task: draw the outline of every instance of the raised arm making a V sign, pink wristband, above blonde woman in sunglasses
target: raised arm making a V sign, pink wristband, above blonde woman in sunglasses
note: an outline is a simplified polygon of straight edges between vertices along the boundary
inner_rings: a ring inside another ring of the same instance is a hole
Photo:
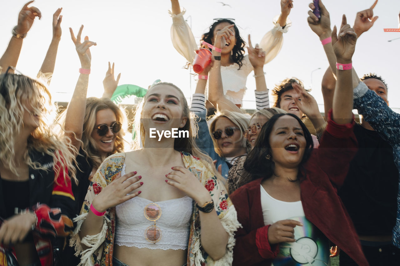
[[[89,41],[88,36],[85,37],[83,43],[80,42],[83,25],[80,27],[78,35],[74,36],[74,32],[70,28],[72,42],[75,44],[76,52],[78,52],[81,69],[86,71],[80,71],[78,82],[72,99],[68,104],[66,118],[65,118],[65,131],[66,135],[70,137],[72,144],[79,150],[80,139],[82,139],[83,121],[86,109],[86,93],[88,91],[88,82],[92,56],[90,54],[89,47],[96,45],[95,42]],[[86,72],[86,73],[82,73]]]

